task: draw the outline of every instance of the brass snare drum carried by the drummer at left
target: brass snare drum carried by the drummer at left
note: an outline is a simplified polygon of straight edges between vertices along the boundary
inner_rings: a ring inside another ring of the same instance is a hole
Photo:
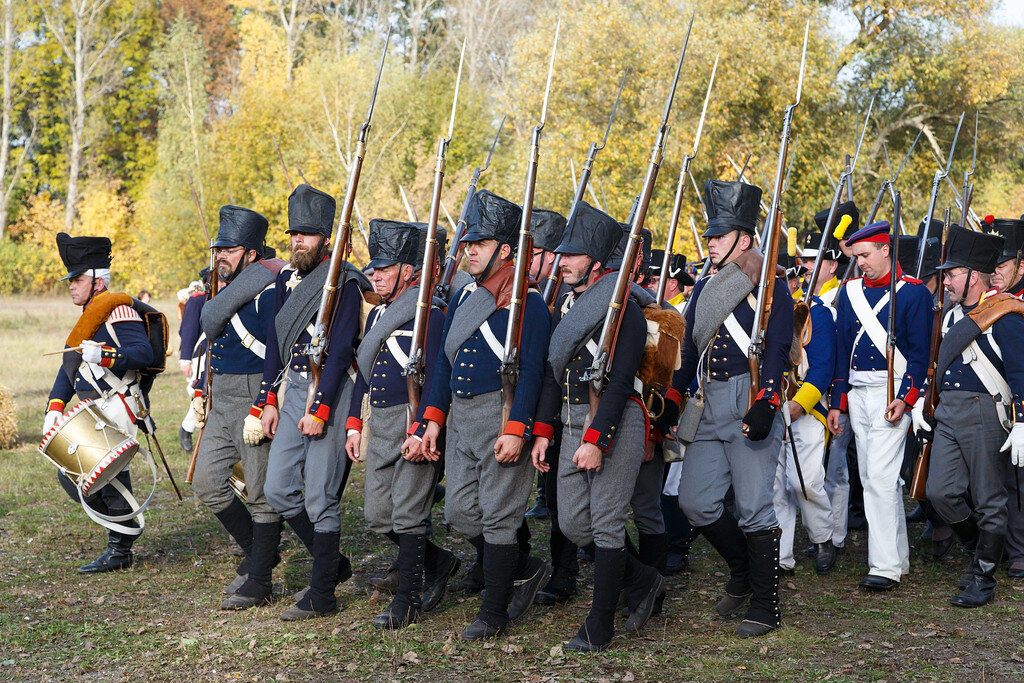
[[[89,496],[127,467],[138,447],[138,441],[114,427],[99,407],[87,399],[46,432],[39,453],[67,474],[82,496]]]

